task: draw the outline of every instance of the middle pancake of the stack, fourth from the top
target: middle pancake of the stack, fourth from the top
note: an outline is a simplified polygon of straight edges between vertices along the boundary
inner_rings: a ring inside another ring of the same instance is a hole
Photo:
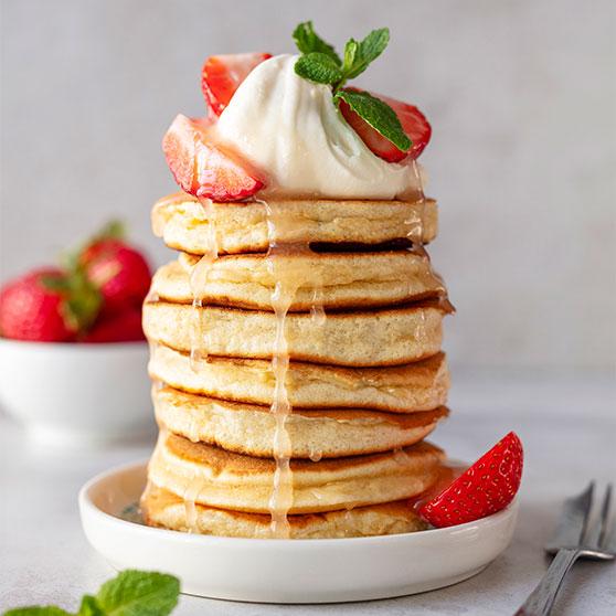
[[[153,344],[149,373],[174,389],[223,400],[270,405],[275,379],[268,360],[209,358],[192,370],[187,353]],[[447,400],[444,353],[395,368],[340,368],[291,362],[286,379],[295,408],[432,411]]]

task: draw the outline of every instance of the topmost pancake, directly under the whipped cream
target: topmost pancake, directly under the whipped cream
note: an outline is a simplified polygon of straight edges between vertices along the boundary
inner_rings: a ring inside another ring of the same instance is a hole
[[[436,202],[277,200],[288,212],[288,233],[279,242],[378,245],[408,234],[428,243],[436,236]],[[220,254],[265,252],[269,247],[266,204],[213,203]],[[155,235],[170,248],[202,255],[211,233],[204,209],[195,198],[176,193],[157,201],[152,210]]]

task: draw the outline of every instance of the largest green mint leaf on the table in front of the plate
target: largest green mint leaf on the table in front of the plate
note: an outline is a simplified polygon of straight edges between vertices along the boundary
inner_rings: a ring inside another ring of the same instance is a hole
[[[96,603],[106,616],[167,616],[179,593],[172,575],[127,570],[100,586]]]

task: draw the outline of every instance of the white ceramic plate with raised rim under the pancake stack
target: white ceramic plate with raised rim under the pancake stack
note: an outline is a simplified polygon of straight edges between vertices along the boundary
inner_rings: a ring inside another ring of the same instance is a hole
[[[127,521],[146,482],[132,464],[91,479],[79,492],[91,544],[116,569],[177,575],[182,592],[259,603],[330,603],[410,595],[479,573],[509,544],[517,503],[449,529],[351,539],[234,539]]]

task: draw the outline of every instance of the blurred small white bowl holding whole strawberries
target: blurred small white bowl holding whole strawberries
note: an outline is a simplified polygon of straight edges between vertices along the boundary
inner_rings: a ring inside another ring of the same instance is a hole
[[[59,445],[130,438],[153,424],[147,362],[146,342],[0,339],[0,407]]]

